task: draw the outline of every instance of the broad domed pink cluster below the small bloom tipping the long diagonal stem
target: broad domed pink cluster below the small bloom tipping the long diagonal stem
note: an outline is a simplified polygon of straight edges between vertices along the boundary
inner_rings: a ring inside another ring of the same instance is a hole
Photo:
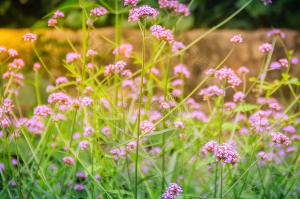
[[[237,77],[235,71],[227,67],[223,67],[217,71],[214,71],[214,77],[218,80],[227,79],[227,83],[233,88],[241,83],[241,80]]]

